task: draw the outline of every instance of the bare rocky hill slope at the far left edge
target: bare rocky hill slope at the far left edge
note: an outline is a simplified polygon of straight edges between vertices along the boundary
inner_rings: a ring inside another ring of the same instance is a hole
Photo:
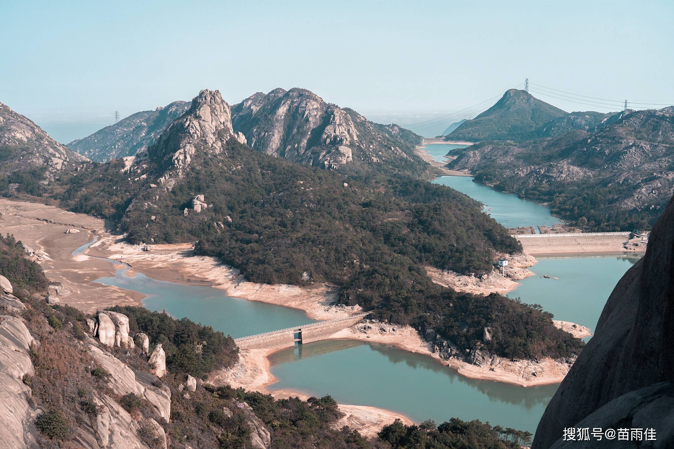
[[[40,173],[36,178],[49,181],[62,170],[71,170],[86,161],[32,120],[0,103],[0,174],[37,169]]]

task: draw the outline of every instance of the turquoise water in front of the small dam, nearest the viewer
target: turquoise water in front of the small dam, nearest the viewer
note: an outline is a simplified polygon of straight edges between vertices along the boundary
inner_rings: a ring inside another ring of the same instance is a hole
[[[415,422],[460,417],[533,432],[557,390],[470,380],[427,355],[359,341],[317,341],[269,359],[278,379],[272,389],[331,394],[339,403],[381,407]]]

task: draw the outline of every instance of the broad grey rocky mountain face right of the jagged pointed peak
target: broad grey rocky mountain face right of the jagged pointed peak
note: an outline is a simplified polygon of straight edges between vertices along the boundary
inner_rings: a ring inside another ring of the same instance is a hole
[[[414,153],[418,135],[373,123],[306,89],[257,92],[232,107],[232,125],[253,149],[301,164],[347,171],[425,169]]]

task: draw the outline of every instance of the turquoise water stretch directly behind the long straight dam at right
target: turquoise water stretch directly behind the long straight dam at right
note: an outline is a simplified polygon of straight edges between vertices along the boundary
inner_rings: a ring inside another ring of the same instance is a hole
[[[561,221],[548,209],[534,201],[518,198],[514,193],[501,193],[490,187],[472,182],[470,176],[440,176],[431,181],[450,186],[485,205],[485,211],[506,228],[519,226],[552,226]],[[538,233],[538,228],[536,228]]]

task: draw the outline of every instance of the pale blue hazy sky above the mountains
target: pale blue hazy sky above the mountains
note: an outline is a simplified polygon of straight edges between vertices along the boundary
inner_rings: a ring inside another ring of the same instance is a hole
[[[204,88],[306,88],[423,135],[527,77],[569,111],[674,103],[674,1],[4,0],[0,36],[0,102],[63,143]]]

